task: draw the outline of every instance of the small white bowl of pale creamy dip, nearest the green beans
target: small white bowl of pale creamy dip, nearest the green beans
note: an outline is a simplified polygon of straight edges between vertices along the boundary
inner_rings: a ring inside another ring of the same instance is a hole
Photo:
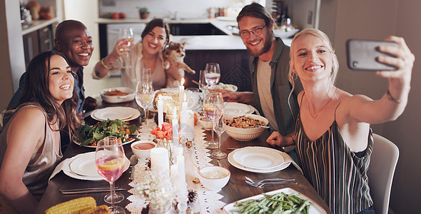
[[[199,170],[199,180],[208,190],[220,190],[230,180],[230,170],[217,166],[209,165]]]

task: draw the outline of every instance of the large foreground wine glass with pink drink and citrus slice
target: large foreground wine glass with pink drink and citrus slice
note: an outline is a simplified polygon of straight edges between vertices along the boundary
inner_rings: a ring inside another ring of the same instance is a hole
[[[114,181],[123,174],[124,162],[124,148],[120,139],[108,136],[98,141],[95,151],[96,170],[103,180],[110,183],[111,195],[114,193]],[[111,213],[126,213],[123,208],[114,205],[114,197],[110,197],[110,199],[111,206],[109,209]]]

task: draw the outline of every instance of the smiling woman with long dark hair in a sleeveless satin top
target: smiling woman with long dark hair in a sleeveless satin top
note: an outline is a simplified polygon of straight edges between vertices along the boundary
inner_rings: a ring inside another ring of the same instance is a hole
[[[62,54],[35,56],[26,83],[18,107],[1,113],[0,205],[6,213],[34,212],[63,156],[60,131],[71,136],[78,123],[74,78]]]

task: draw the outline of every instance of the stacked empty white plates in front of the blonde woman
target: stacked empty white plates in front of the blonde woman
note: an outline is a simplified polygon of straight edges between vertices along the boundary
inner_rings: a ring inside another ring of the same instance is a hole
[[[283,152],[273,148],[248,146],[228,154],[228,162],[235,168],[253,173],[273,173],[290,165]]]

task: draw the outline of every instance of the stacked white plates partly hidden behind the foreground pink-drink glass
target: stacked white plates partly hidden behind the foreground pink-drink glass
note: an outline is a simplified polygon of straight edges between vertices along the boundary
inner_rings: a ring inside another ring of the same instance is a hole
[[[124,171],[128,169],[130,161],[125,157]],[[69,170],[63,170],[63,172],[71,178],[80,180],[103,180],[98,174],[95,165],[95,152],[83,153],[76,157],[69,163]]]

